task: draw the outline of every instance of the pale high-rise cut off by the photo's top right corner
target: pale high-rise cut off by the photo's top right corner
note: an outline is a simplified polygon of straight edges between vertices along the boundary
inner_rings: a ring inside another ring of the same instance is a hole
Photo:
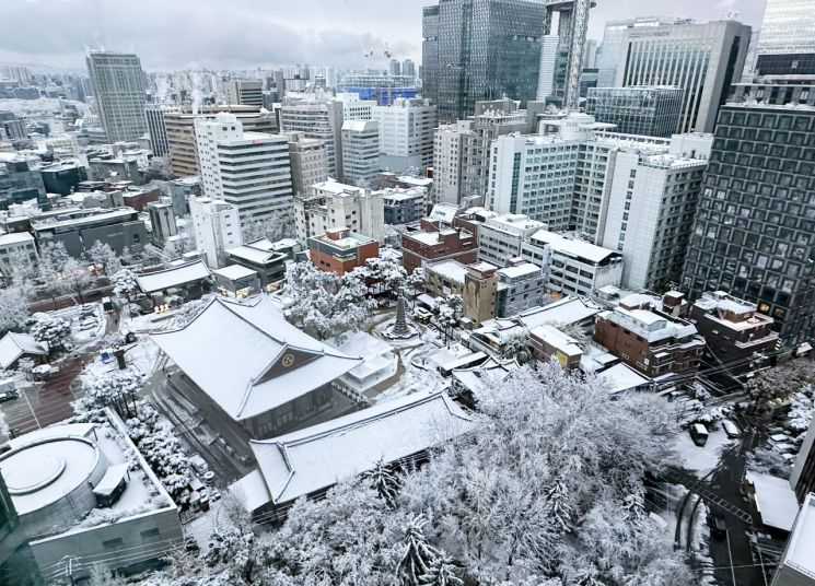
[[[759,75],[815,74],[815,0],[767,0],[755,68]]]

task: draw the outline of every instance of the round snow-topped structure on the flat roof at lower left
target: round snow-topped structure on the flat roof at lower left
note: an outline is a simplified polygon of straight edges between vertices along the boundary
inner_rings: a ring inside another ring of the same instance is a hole
[[[0,457],[14,507],[33,535],[75,523],[94,508],[93,485],[106,469],[98,446],[77,435],[40,437]]]

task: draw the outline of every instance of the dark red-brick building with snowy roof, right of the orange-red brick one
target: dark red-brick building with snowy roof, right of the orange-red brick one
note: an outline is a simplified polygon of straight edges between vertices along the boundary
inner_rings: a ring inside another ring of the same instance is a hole
[[[428,262],[455,259],[464,265],[478,260],[478,239],[466,230],[439,221],[421,220],[421,230],[401,235],[401,263],[408,272]]]

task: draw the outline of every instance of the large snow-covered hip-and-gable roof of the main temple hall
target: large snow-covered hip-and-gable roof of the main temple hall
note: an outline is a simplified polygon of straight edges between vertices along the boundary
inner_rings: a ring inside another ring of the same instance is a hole
[[[362,362],[299,330],[267,300],[216,298],[184,328],[152,339],[238,421],[302,397]]]

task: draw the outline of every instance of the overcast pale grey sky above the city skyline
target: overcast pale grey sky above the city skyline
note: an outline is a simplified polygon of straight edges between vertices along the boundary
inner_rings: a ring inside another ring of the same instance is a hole
[[[596,0],[606,20],[649,14],[717,20],[737,10],[757,26],[766,0]],[[288,63],[362,68],[394,56],[421,62],[421,8],[431,0],[0,0],[0,62],[84,69],[85,47],[133,51],[145,70]]]

